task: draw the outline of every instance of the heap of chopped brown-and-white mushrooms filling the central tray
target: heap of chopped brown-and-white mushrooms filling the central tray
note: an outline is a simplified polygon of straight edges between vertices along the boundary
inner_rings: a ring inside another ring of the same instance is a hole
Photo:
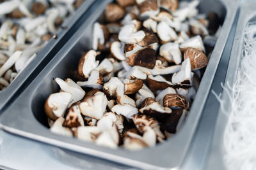
[[[52,132],[138,150],[178,131],[220,20],[198,14],[199,1],[116,2],[106,7],[106,22],[93,25],[93,49],[74,81],[55,79],[60,92],[48,97],[45,113]]]

